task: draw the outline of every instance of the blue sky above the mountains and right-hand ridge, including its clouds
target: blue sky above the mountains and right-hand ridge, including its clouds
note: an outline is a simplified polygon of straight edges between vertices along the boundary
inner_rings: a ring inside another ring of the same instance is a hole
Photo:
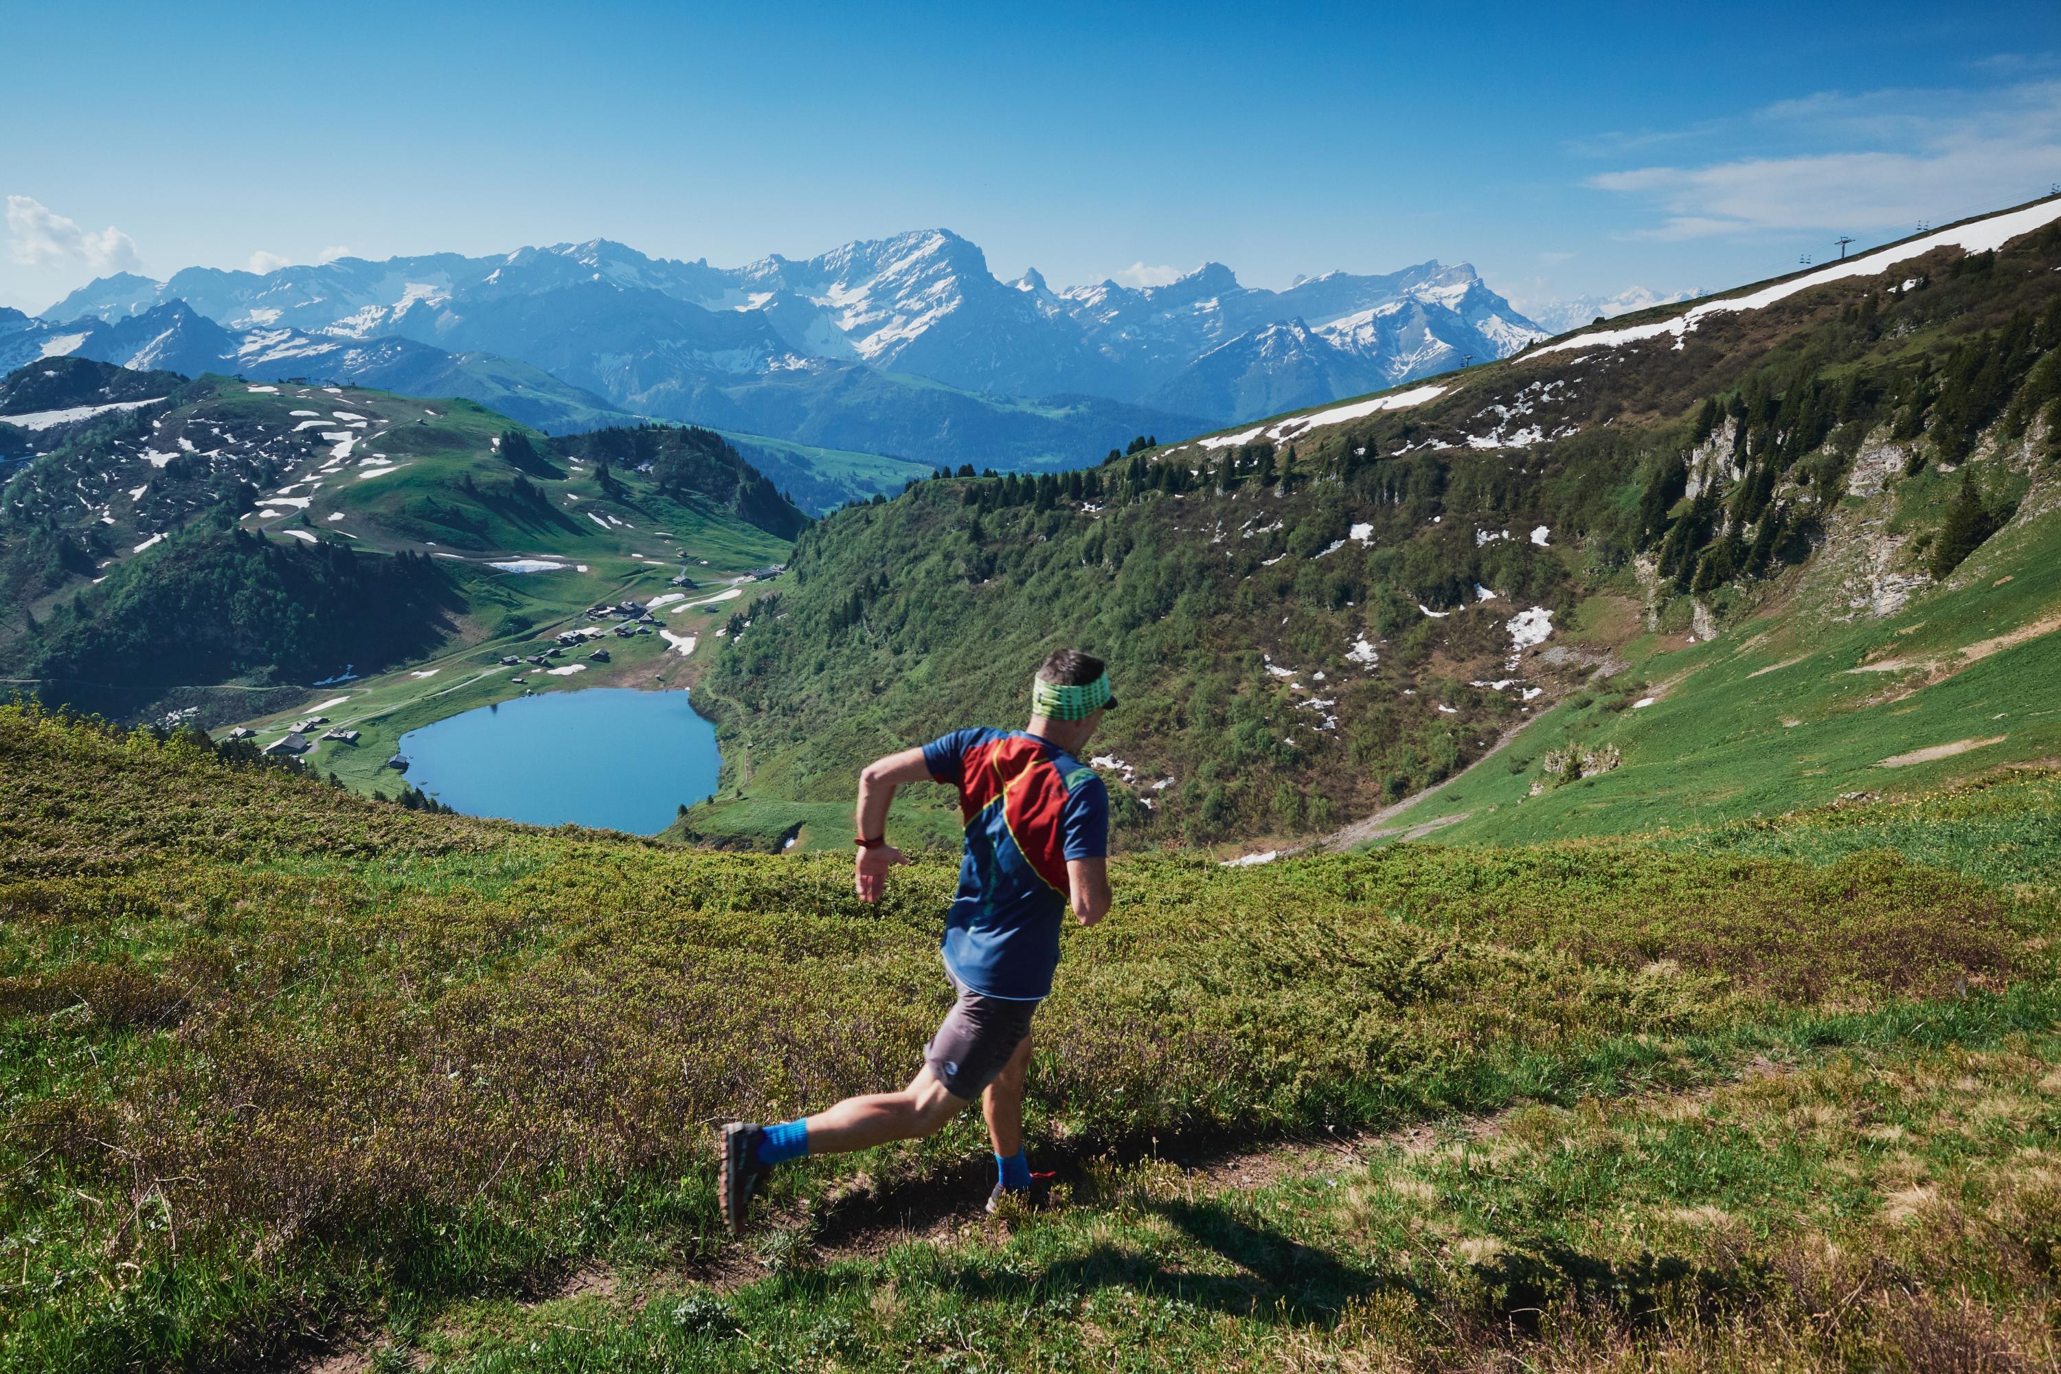
[[[1053,286],[1717,288],[2061,181],[2061,6],[14,6],[0,305],[948,227]]]

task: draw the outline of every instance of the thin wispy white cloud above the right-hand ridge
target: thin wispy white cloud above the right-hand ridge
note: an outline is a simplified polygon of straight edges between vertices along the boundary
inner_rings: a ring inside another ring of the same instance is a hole
[[[1770,231],[1908,233],[2045,196],[2061,179],[2061,82],[1991,93],[1824,93],[1758,124],[1840,150],[1636,167],[1589,185],[1638,196],[1661,222],[1634,239]],[[1871,144],[1871,146],[1869,146]]]

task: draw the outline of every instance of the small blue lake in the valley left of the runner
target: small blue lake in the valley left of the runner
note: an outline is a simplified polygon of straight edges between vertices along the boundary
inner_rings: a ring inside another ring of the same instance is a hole
[[[408,781],[468,816],[655,834],[715,793],[715,725],[686,692],[587,688],[478,707],[400,737]]]

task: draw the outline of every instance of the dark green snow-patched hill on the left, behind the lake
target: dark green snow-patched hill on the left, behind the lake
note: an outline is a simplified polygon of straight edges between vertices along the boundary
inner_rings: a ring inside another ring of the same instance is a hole
[[[544,439],[470,402],[221,377],[87,424],[6,492],[16,686],[278,733],[354,698],[342,727],[363,737],[315,756],[365,789],[392,785],[379,764],[404,729],[571,686],[517,684],[499,659],[596,602],[670,597],[674,639],[624,641],[577,682],[678,684],[728,583],[806,523],[709,431]],[[701,587],[672,589],[682,573]]]

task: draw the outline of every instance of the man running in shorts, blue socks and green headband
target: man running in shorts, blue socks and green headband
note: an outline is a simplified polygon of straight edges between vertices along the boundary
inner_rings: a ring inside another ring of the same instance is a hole
[[[1076,754],[1115,705],[1103,661],[1059,649],[1030,682],[1026,729],[954,729],[859,775],[855,886],[866,902],[878,902],[888,869],[907,863],[884,834],[894,789],[958,787],[967,857],[944,919],[944,972],[958,1001],[925,1046],[923,1071],[901,1092],[845,1098],[771,1127],[732,1121],[721,1129],[719,1195],[732,1236],[775,1164],[936,1135],[973,1098],[995,1149],[987,1209],[1030,1191],[1022,1147],[1030,1018],[1051,993],[1066,904],[1082,925],[1109,911],[1109,791]]]

